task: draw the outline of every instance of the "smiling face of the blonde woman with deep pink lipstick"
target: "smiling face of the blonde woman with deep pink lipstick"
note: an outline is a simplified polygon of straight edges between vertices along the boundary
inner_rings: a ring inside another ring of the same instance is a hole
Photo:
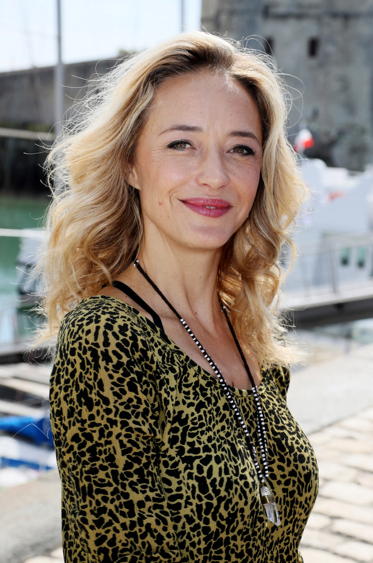
[[[261,166],[259,111],[240,83],[208,71],[161,83],[128,178],[145,242],[158,231],[183,247],[221,248],[249,215]]]

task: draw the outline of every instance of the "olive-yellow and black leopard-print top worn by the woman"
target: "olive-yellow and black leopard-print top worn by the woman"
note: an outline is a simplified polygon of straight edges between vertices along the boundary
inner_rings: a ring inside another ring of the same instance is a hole
[[[65,562],[302,561],[317,463],[288,385],[278,368],[259,386],[277,528],[217,379],[133,307],[80,302],[62,321],[51,377]],[[252,392],[231,392],[258,444]]]

